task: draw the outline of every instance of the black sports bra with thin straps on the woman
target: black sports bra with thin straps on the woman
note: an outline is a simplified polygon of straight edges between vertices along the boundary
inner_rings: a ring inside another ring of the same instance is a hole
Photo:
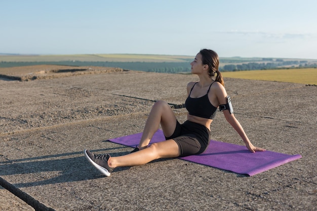
[[[214,81],[215,82],[215,81]],[[211,85],[214,83],[212,82]],[[194,86],[197,82],[195,82]],[[207,94],[200,98],[191,98],[190,94],[194,86],[192,86],[190,93],[185,101],[185,106],[190,115],[199,116],[206,119],[214,119],[217,113],[217,107],[213,106],[208,98],[208,93],[211,85],[207,91]]]

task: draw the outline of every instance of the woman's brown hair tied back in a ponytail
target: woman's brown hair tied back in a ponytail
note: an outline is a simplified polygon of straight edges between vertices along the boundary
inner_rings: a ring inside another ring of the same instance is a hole
[[[217,73],[215,81],[218,81],[219,83],[224,86],[224,81],[221,73],[218,70],[219,67],[219,57],[216,52],[213,50],[203,49],[199,52],[202,55],[202,62],[203,64],[208,65],[208,75],[209,77],[215,76],[215,73]]]

